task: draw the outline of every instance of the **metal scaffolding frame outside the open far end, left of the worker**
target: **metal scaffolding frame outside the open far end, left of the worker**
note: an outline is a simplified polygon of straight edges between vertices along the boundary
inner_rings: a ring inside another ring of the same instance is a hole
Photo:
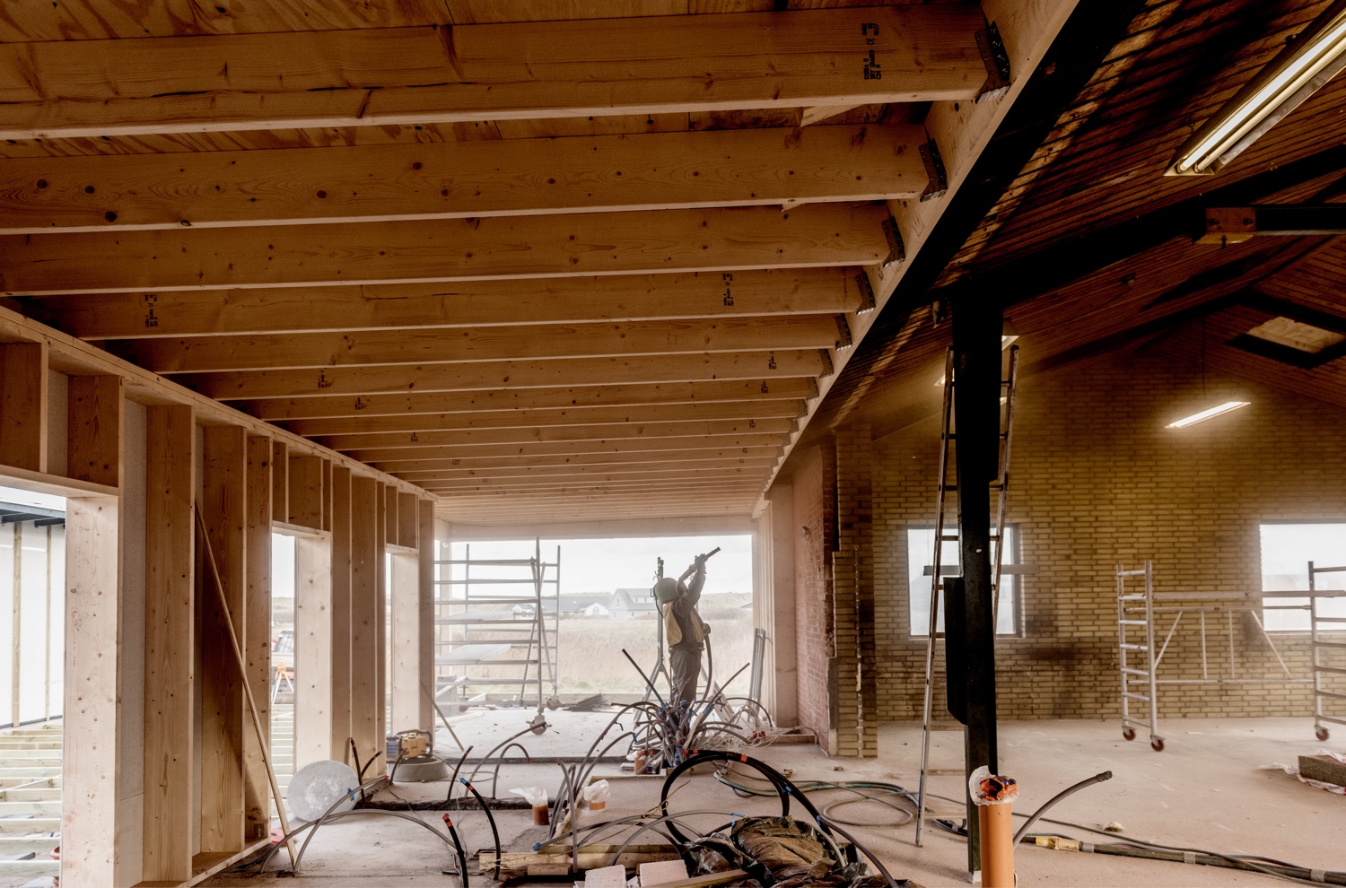
[[[525,705],[536,689],[537,710],[541,712],[548,702],[546,685],[551,685],[552,698],[559,693],[561,548],[556,546],[556,561],[542,560],[541,540],[533,541],[530,558],[472,558],[471,544],[466,544],[462,558],[439,558],[435,565],[436,700],[456,690],[455,702],[467,705],[474,698],[468,693],[474,688],[517,683],[520,705]],[[454,577],[454,568],[462,568],[463,576]],[[479,570],[472,576],[472,568],[505,569],[506,576],[482,576]],[[511,572],[518,576],[509,576]],[[509,593],[520,587],[528,593]],[[532,607],[532,616],[513,615],[513,608],[520,605]],[[502,607],[510,611],[482,609]],[[513,634],[525,628],[526,634]],[[501,634],[505,636],[491,638]],[[501,657],[517,650],[524,651],[522,658]],[[474,667],[494,666],[521,667],[522,674],[518,678],[472,674]],[[459,671],[446,678],[443,667]]]

